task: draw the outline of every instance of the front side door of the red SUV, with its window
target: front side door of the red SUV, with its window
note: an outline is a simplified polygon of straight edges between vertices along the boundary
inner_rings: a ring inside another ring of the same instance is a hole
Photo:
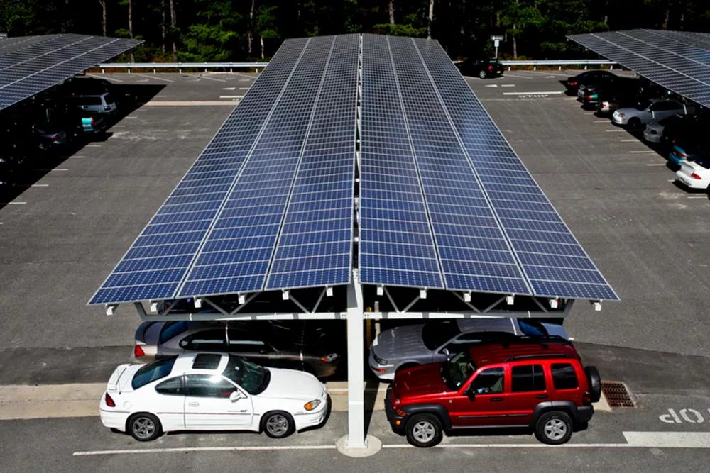
[[[478,369],[447,408],[457,428],[507,425],[505,366]]]

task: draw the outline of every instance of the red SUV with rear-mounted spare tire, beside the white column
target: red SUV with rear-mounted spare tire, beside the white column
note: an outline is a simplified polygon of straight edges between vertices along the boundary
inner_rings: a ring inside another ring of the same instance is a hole
[[[449,361],[403,369],[385,398],[387,419],[416,447],[432,447],[445,431],[530,427],[542,443],[567,442],[599,401],[601,380],[562,340],[483,343]]]

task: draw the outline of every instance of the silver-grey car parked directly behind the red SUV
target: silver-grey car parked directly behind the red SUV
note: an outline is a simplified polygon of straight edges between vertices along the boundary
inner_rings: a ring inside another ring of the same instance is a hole
[[[431,321],[383,330],[370,347],[369,366],[383,381],[392,381],[401,369],[442,362],[447,352],[459,347],[501,339],[515,341],[518,336],[559,336],[566,339],[562,325],[530,319],[472,318],[458,321]]]

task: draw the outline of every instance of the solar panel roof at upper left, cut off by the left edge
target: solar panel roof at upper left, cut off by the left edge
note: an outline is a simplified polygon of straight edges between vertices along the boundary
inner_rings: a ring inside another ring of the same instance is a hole
[[[141,43],[141,40],[74,34],[1,40],[0,110]]]

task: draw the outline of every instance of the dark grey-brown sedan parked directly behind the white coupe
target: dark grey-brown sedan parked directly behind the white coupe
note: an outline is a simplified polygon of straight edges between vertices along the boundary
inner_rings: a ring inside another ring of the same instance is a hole
[[[145,322],[136,330],[131,361],[143,363],[185,352],[229,352],[263,366],[332,376],[341,357],[311,341],[298,345],[269,322]]]

